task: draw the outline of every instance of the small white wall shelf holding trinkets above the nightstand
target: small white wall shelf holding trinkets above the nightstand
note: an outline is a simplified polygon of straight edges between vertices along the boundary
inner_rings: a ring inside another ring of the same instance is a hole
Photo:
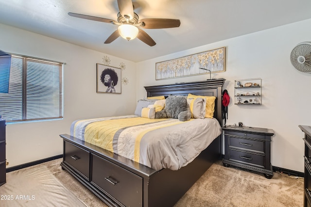
[[[261,105],[261,79],[234,81],[234,104]]]

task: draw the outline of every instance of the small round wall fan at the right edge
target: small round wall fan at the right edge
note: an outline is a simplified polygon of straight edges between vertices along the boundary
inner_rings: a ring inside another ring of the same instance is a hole
[[[296,45],[291,52],[291,62],[298,71],[311,73],[311,42]]]

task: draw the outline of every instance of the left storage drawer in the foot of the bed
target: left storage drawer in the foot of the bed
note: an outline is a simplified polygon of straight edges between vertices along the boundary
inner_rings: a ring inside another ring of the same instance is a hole
[[[89,155],[86,150],[64,141],[64,161],[89,180]]]

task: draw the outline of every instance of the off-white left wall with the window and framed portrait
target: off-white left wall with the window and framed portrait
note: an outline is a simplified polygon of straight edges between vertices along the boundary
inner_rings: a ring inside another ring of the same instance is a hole
[[[136,63],[4,24],[0,24],[0,49],[66,63],[64,119],[8,124],[6,159],[10,164],[7,167],[62,154],[59,134],[70,133],[70,124],[76,119],[126,115],[135,111]],[[126,66],[122,77],[129,83],[122,84],[121,94],[96,93],[96,63],[103,64],[104,56],[110,58],[111,66],[119,67],[120,63]]]

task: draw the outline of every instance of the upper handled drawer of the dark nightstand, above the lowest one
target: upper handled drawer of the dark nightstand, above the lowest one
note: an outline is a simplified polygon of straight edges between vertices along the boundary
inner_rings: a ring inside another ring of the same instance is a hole
[[[229,136],[229,148],[234,147],[264,153],[264,144],[265,144],[264,141],[257,141]]]

